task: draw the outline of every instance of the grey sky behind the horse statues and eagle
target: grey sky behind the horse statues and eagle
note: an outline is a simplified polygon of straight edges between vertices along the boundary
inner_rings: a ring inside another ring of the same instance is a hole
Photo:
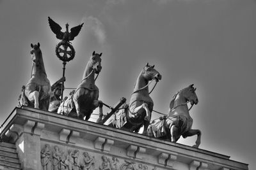
[[[70,28],[84,22],[72,41],[76,56],[67,63],[65,87],[76,88],[92,52],[102,52],[96,85],[99,99],[113,106],[121,97],[129,101],[143,66],[154,64],[162,74],[150,94],[154,110],[168,113],[172,96],[194,83],[199,103],[190,115],[193,129],[202,131],[199,148],[256,168],[255,0],[0,0],[1,124],[30,78],[31,43],[41,45],[51,84],[62,76],[54,52],[60,40],[47,17],[63,31],[67,22]],[[195,140],[178,143],[192,146]]]

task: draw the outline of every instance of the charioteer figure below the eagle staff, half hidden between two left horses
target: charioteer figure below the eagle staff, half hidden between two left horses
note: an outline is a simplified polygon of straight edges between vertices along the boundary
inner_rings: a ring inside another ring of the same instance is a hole
[[[62,87],[62,82],[64,82],[66,80],[65,77],[60,78],[60,80],[56,81],[56,83],[54,83],[51,86],[51,98],[50,98],[50,104],[49,104],[49,109],[48,111],[52,111],[57,113],[58,108],[60,107],[61,104],[61,88]]]

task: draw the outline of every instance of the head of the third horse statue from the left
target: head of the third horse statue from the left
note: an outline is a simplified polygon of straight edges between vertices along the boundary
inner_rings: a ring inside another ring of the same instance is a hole
[[[143,67],[143,78],[145,80],[152,80],[155,79],[156,81],[161,80],[162,76],[161,74],[154,69],[154,66],[150,66],[148,63],[145,67]]]

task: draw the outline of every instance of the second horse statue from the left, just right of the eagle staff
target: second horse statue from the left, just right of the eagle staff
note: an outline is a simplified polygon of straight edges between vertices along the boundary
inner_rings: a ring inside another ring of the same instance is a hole
[[[99,89],[95,85],[95,73],[101,71],[102,53],[92,53],[88,61],[81,83],[77,86],[74,93],[71,93],[68,99],[63,101],[58,108],[58,113],[70,117],[78,117],[88,120],[95,108],[102,102],[98,100]],[[100,110],[102,111],[102,110]]]

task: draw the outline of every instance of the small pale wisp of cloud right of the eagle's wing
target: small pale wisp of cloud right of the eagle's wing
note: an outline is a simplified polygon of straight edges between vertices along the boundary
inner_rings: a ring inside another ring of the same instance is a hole
[[[100,44],[104,44],[106,42],[106,31],[104,30],[104,25],[98,18],[92,16],[83,17],[82,22],[85,23],[88,31],[93,32]]]

